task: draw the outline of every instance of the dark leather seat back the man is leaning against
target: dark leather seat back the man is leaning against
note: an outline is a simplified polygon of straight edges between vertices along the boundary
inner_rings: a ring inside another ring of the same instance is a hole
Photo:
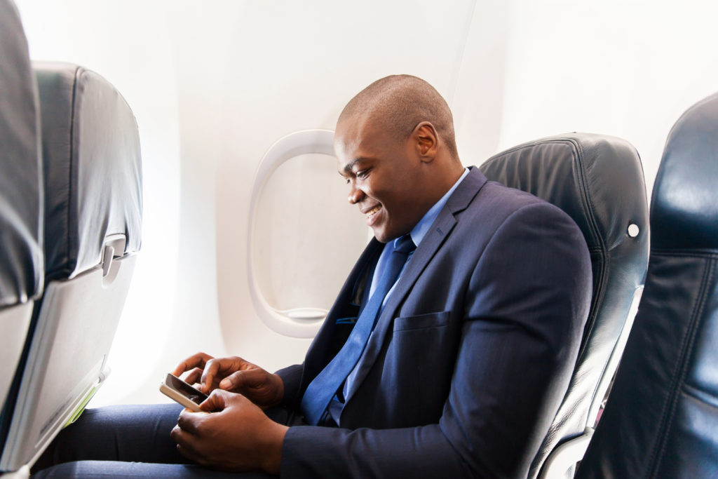
[[[579,225],[591,254],[593,294],[564,399],[531,465],[536,477],[556,445],[595,422],[621,332],[648,263],[648,205],[638,153],[611,136],[566,134],[521,144],[480,167],[490,180],[558,206]],[[597,407],[595,408],[597,411]],[[580,459],[580,455],[576,460]]]

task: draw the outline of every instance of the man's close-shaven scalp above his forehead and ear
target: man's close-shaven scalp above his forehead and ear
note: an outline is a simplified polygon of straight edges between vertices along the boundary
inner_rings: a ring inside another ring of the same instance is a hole
[[[350,119],[362,119],[380,126],[397,141],[406,141],[416,125],[428,121],[444,142],[449,156],[459,157],[449,105],[421,78],[391,75],[376,80],[347,103],[337,125]]]

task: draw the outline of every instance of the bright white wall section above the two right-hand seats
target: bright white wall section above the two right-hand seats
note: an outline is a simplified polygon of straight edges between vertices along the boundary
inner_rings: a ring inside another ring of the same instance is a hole
[[[566,131],[630,141],[651,195],[671,126],[718,90],[718,4],[513,0],[500,149]]]

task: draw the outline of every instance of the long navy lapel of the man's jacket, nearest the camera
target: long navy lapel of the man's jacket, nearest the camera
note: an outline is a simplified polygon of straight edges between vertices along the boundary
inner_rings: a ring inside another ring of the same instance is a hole
[[[406,269],[404,269],[404,272],[401,274],[401,278],[398,283],[396,283],[396,287],[394,287],[381,315],[379,315],[376,327],[369,337],[366,349],[359,360],[356,368],[356,376],[352,382],[351,390],[348,391],[346,401],[351,399],[376,362],[376,358],[386,338],[386,332],[393,324],[393,318],[396,317],[398,313],[399,304],[404,302],[404,298],[409,294],[411,288],[414,287],[421,272],[424,271],[426,265],[429,264],[429,261],[431,261],[437,251],[439,251],[439,248],[457,224],[455,215],[467,208],[486,181],[486,177],[482,175],[476,167],[470,167],[469,175],[467,175],[457,189],[454,190],[454,193],[449,197],[439,216],[434,220],[432,227],[429,228],[426,236],[421,240],[421,244],[419,244],[416,251],[414,251],[409,263],[406,264]]]

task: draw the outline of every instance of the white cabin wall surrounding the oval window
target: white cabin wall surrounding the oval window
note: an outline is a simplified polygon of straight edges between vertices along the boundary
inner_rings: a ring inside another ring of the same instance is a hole
[[[718,6],[699,0],[16,1],[31,56],[105,76],[140,129],[143,248],[95,406],[164,401],[162,374],[196,350],[268,369],[302,360],[309,340],[270,330],[249,297],[253,177],[274,141],[333,129],[371,81],[437,87],[467,165],[541,136],[613,134],[638,148],[649,192],[668,129],[718,90]],[[296,171],[274,187],[314,181]],[[362,220],[343,193],[326,202],[341,206],[308,212],[297,234]]]

